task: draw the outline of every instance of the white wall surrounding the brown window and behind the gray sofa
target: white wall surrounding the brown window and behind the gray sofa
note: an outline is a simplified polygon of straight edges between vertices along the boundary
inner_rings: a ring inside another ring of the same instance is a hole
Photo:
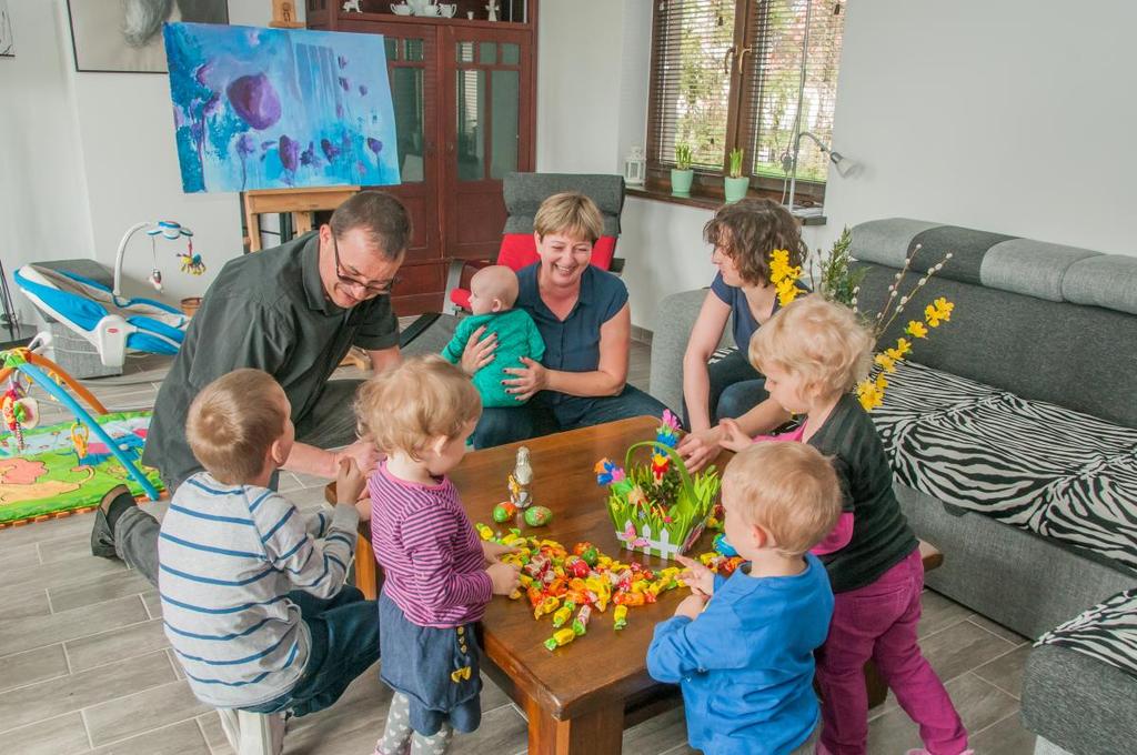
[[[1137,5],[861,0],[846,13],[833,144],[864,167],[830,171],[811,248],[898,215],[1137,255]],[[650,15],[650,0],[542,2],[539,169],[619,172],[642,143]],[[607,47],[617,34],[620,51]],[[613,101],[615,125],[596,115]],[[663,297],[709,281],[709,216],[628,200],[620,254],[637,325],[655,329]]]

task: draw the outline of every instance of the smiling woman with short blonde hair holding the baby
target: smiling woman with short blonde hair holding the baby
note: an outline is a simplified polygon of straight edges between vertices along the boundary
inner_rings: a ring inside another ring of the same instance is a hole
[[[604,230],[596,204],[579,192],[541,202],[533,217],[540,260],[517,272],[514,306],[526,310],[545,339],[545,358],[503,372],[516,407],[488,407],[474,430],[475,448],[489,448],[562,430],[640,415],[664,406],[626,384],[631,346],[628,289],[592,267],[592,244]],[[466,342],[462,366],[475,373],[493,358],[492,335],[482,329]],[[532,399],[532,400],[529,400]]]

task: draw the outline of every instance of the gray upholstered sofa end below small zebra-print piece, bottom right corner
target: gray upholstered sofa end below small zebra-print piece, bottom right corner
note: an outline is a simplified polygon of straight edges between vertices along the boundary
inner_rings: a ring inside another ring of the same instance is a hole
[[[1077,755],[1134,752],[1137,685],[1128,673],[1054,645],[1030,652],[1022,680],[1027,729]]]

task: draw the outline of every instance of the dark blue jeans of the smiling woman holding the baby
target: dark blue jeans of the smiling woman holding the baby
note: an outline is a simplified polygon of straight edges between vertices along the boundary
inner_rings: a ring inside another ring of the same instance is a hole
[[[483,409],[472,440],[474,448],[492,448],[616,420],[658,417],[665,408],[632,385],[624,385],[619,396],[587,398],[541,391],[523,406]]]

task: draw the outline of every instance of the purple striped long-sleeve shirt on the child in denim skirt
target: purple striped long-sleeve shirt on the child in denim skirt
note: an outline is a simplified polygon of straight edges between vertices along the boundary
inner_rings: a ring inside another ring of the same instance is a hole
[[[380,464],[367,480],[383,591],[420,627],[479,621],[493,597],[482,544],[449,479],[422,486]]]

